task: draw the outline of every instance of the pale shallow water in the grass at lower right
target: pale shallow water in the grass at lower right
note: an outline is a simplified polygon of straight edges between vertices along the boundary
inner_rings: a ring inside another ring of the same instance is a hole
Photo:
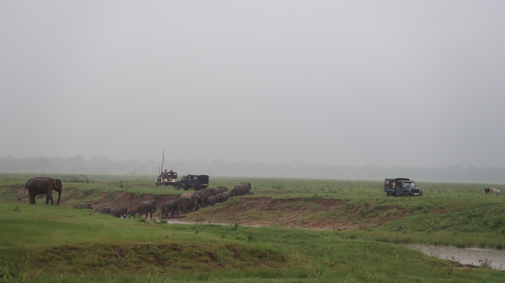
[[[488,263],[492,269],[505,271],[505,251],[484,248],[456,248],[454,246],[425,246],[421,244],[407,244],[405,246],[443,260],[473,266],[482,266]]]

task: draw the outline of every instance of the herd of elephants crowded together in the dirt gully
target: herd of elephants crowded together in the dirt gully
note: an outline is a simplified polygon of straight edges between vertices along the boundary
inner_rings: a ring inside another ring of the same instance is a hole
[[[240,183],[228,191],[226,186],[217,188],[205,188],[192,193],[183,193],[177,199],[171,199],[161,205],[161,217],[173,217],[174,215],[197,211],[201,207],[213,206],[219,202],[226,202],[230,197],[238,197],[240,195],[254,195],[251,191],[250,183]],[[125,206],[118,208],[93,208],[92,204],[77,204],[75,208],[93,209],[99,213],[111,214],[115,217],[135,217],[137,214],[146,218],[153,218],[153,213],[156,213],[156,201],[146,200],[137,205],[137,209],[130,210]]]

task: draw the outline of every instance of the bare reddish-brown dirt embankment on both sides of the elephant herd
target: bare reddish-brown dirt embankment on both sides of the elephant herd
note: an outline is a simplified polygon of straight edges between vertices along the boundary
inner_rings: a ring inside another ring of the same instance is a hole
[[[21,197],[23,189],[19,189],[18,193]],[[57,199],[57,193],[53,194],[53,198]],[[139,202],[154,200],[157,206],[157,212],[154,216],[160,217],[161,205],[170,199],[176,198],[176,195],[68,190],[62,195],[60,204],[74,206],[75,204],[91,203],[94,208],[126,206],[128,209],[136,209]],[[237,201],[237,199],[239,200]],[[44,204],[45,200],[46,196],[41,195],[37,197],[37,204]],[[22,201],[28,202],[28,196],[26,195]],[[349,220],[349,217],[344,215],[349,211],[346,210],[347,202],[346,199],[237,197],[215,206],[200,208],[198,211],[186,213],[185,215],[178,215],[174,219],[178,222],[187,223],[237,223],[248,226],[286,226],[342,230],[374,223],[360,222],[356,224],[353,220]],[[354,217],[354,219],[356,218]]]

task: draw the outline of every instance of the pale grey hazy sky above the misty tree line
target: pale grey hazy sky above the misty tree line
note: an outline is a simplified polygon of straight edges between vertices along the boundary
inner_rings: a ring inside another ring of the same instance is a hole
[[[0,157],[505,167],[505,1],[0,1]]]

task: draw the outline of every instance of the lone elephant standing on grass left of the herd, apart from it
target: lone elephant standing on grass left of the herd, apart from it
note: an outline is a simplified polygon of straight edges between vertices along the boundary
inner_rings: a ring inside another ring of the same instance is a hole
[[[30,196],[30,204],[35,204],[36,195],[46,195],[46,204],[48,204],[49,201],[51,201],[51,204],[53,204],[54,203],[53,190],[55,190],[58,192],[58,200],[56,201],[56,204],[59,205],[59,199],[62,197],[61,179],[53,179],[48,177],[35,177],[29,179],[28,182],[26,182],[23,195],[26,194],[27,188],[28,188],[28,195]]]

